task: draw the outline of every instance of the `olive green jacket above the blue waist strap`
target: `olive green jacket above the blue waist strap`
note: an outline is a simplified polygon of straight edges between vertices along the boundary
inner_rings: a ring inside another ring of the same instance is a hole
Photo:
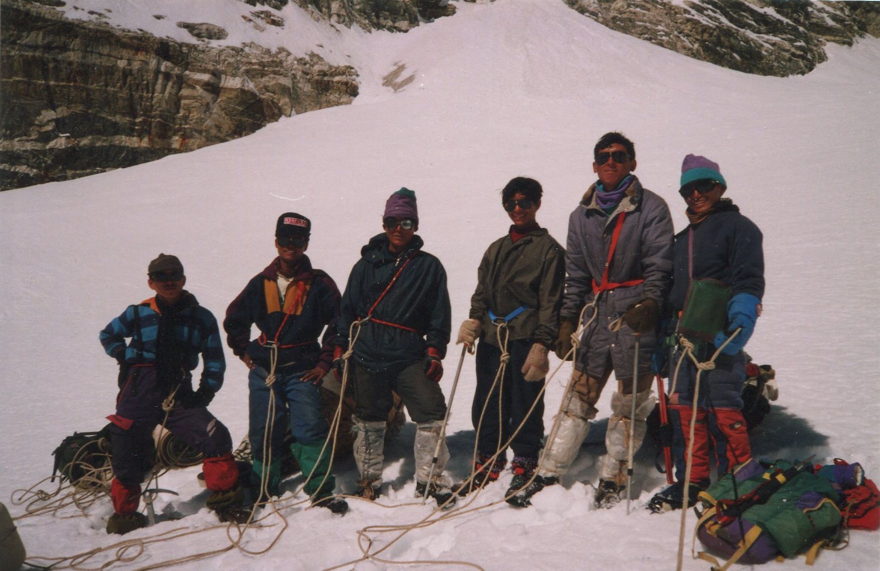
[[[510,340],[532,339],[552,347],[559,333],[559,311],[565,288],[565,249],[544,228],[514,244],[510,234],[489,245],[477,270],[470,318],[480,319],[482,340],[498,344],[489,311],[504,318],[526,305],[508,323]]]

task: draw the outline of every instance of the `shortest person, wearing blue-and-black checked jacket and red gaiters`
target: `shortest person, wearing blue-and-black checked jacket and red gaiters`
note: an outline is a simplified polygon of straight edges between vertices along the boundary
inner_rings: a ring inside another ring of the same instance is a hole
[[[160,253],[147,275],[156,296],[129,305],[100,333],[106,354],[121,367],[116,414],[107,417],[112,422],[114,471],[114,515],[107,521],[107,533],[121,535],[147,524],[137,507],[143,479],[153,468],[153,429],[165,419],[164,401],[169,397],[173,407],[165,428],[204,454],[202,472],[211,491],[208,507],[221,521],[245,521],[229,430],[207,408],[223,385],[226,369],[216,319],[183,289],[187,276],[176,256]],[[191,371],[200,354],[202,380],[193,391]]]

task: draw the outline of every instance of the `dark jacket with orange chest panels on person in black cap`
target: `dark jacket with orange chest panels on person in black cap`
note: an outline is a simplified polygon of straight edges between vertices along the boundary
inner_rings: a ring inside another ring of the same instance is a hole
[[[253,276],[229,304],[223,322],[226,342],[235,355],[250,355],[266,370],[271,366],[269,344],[276,342],[280,347],[277,366],[286,366],[289,372],[319,366],[326,372],[333,362],[331,341],[339,315],[339,289],[329,275],[313,269],[309,257],[303,256],[281,306],[277,261],[275,258]],[[253,324],[261,335],[251,340]],[[319,344],[321,332],[324,335]]]

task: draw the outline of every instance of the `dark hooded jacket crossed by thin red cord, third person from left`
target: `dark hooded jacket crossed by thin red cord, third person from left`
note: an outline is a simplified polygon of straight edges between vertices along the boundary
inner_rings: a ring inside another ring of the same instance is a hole
[[[446,270],[440,260],[422,252],[422,245],[422,238],[414,236],[398,255],[388,249],[385,234],[374,236],[348,275],[337,325],[336,342],[343,347],[348,347],[349,326],[369,314],[408,260],[372,312],[373,318],[393,325],[370,321],[357,337],[354,359],[368,370],[402,370],[421,361],[429,347],[436,348],[441,358],[446,355],[452,319]]]

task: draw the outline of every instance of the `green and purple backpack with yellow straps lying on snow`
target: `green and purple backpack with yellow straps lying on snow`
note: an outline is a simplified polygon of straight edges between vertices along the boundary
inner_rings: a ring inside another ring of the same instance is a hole
[[[737,561],[759,564],[806,552],[810,565],[820,548],[837,543],[843,522],[839,492],[813,470],[808,463],[751,459],[700,492],[696,538],[727,562],[719,566],[708,553],[700,559],[725,571]]]

